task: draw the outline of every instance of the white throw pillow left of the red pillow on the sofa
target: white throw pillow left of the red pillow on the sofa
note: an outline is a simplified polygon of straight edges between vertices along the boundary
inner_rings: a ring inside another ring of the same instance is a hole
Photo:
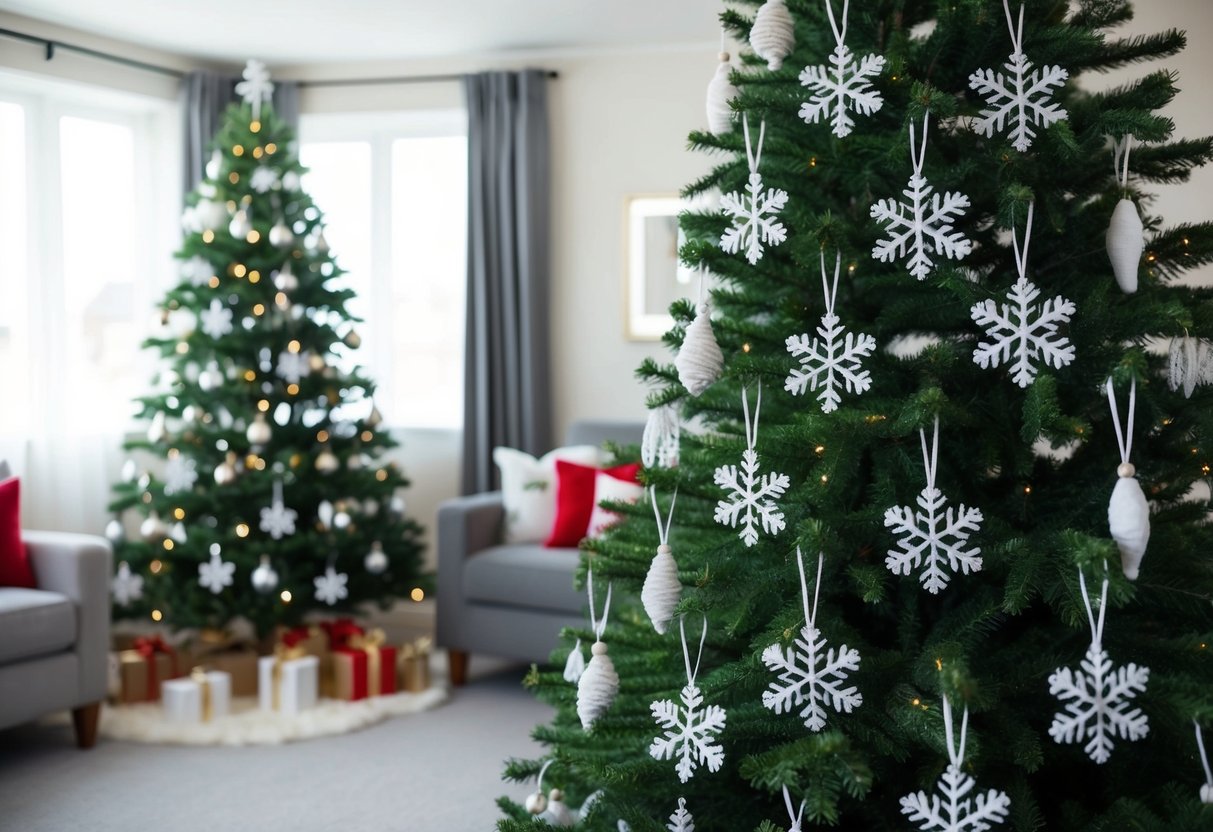
[[[513,448],[494,448],[492,461],[501,471],[501,501],[506,508],[507,543],[541,543],[556,520],[556,461],[599,465],[594,445],[570,445],[535,458]]]

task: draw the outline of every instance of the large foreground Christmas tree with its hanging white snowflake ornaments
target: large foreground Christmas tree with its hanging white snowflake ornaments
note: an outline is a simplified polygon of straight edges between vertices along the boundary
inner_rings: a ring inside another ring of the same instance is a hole
[[[507,776],[564,793],[500,828],[1213,828],[1213,291],[1180,280],[1213,226],[1149,194],[1213,139],[1172,135],[1166,69],[1078,82],[1184,35],[1117,38],[1124,0],[748,5],[761,57],[690,137],[716,287],[639,370],[650,427],[696,427],[648,460],[659,519],[585,545],[606,653],[528,677],[556,716]]]

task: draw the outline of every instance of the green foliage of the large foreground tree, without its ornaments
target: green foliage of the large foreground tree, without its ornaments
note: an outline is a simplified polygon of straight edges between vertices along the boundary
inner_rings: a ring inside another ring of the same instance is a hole
[[[742,42],[759,5],[747,4],[752,8],[745,13],[722,15]],[[1211,828],[1213,807],[1202,807],[1198,797],[1203,774],[1192,723],[1213,724],[1207,649],[1213,534],[1207,492],[1194,486],[1207,478],[1213,458],[1213,388],[1197,386],[1191,398],[1173,389],[1166,346],[1185,332],[1213,336],[1213,292],[1178,280],[1213,260],[1213,227],[1167,226],[1151,213],[1147,188],[1186,179],[1213,156],[1213,141],[1172,136],[1172,122],[1158,113],[1177,92],[1177,79],[1166,69],[1101,93],[1078,84],[1084,73],[1174,55],[1184,36],[1118,39],[1116,24],[1132,13],[1123,0],[1029,0],[1024,53],[1037,68],[1069,72],[1069,80],[1036,97],[1052,99],[1067,118],[1033,124],[1035,137],[1019,149],[1008,133],[1013,125],[1000,125],[992,136],[974,129],[990,102],[970,80],[983,69],[1007,74],[1018,5],[1008,10],[1009,27],[997,0],[856,2],[845,22],[842,6],[835,4],[835,23],[845,29],[854,61],[870,53],[884,58],[872,76],[883,106],[864,113],[848,101],[854,129],[844,137],[836,135],[830,108],[816,124],[805,124],[801,110],[813,91],[798,74],[828,67],[837,40],[824,0],[787,0],[795,51],[776,70],[742,55],[742,68],[733,74],[740,89],[733,99],[736,121],[719,135],[691,136],[695,149],[722,161],[684,192],[744,194],[751,167],[742,119],[750,121],[754,149],[764,121],[762,188],[787,193],[786,207],[774,217],[787,239],[768,240],[751,264],[745,245],[738,253],[722,250],[731,224],[724,212],[684,215],[693,241],[683,260],[718,278],[711,302],[723,376],[693,397],[673,365],[647,363],[639,372],[657,388],[650,406],[673,404],[684,420],[702,426],[694,435],[684,432],[677,468],[649,468],[645,477],[662,512],[677,488],[670,543],[682,583],[678,612],[685,615],[693,663],[704,616],[708,622],[697,685],[705,706],[728,713],[714,739],[724,750],[723,765],[712,773],[699,760],[683,783],[673,760],[649,753],[662,735],[650,703],[677,703],[687,673],[677,617],[657,634],[638,603],[659,541],[651,507],[642,503],[622,509],[627,520],[605,541],[586,545],[599,611],[608,582],[614,585],[604,637],[620,677],[614,703],[587,731],[575,712],[576,685],[558,672],[528,678],[557,707],[552,724],[535,731],[549,746],[545,782],[563,787],[573,807],[603,790],[579,828],[614,831],[623,819],[634,832],[665,830],[685,797],[700,832],[784,830],[791,824],[784,787],[793,808],[807,802],[807,830],[986,828],[973,817],[933,824],[904,811],[902,798],[919,791],[929,798],[946,774],[946,696],[957,737],[962,712],[969,711],[957,769],[975,777],[976,787],[966,799],[1009,800],[1009,808],[987,817],[992,828]],[[1189,97],[1190,104],[1196,101]],[[911,127],[935,193],[964,194],[969,201],[959,206],[956,198],[944,198],[944,207],[958,209],[952,222],[959,237],[949,244],[955,257],[932,246],[934,263],[922,280],[907,268],[907,257],[883,262],[872,255],[890,234],[872,206],[888,198],[907,201]],[[1114,175],[1112,144],[1128,135],[1137,143],[1126,187]],[[1140,268],[1129,269],[1139,283],[1134,294],[1118,286],[1105,253],[1105,232],[1126,195],[1143,210],[1146,226]],[[1014,354],[996,366],[974,360],[979,342],[990,341],[974,307],[1008,303],[1019,277],[1013,235],[1027,249],[1026,278],[1041,290],[1036,314],[1044,314],[1041,304],[1055,296],[1076,307],[1072,314],[1066,303],[1050,307],[1063,313],[1052,321],[1052,347],[1060,355],[1049,361],[1048,351],[1036,355],[1037,375],[1026,386],[1008,366]],[[972,241],[967,256],[961,239]],[[821,320],[820,262],[825,255],[832,279],[836,251],[842,257],[835,304],[841,324],[830,325]],[[695,308],[684,302],[673,313],[678,326],[666,342],[678,351]],[[803,334],[807,344],[824,338],[819,326],[838,325],[871,336],[875,349],[858,357],[870,388],[839,383],[841,403],[830,410],[819,399],[820,386],[799,395],[785,389],[785,383],[796,386],[795,371],[804,370],[790,352],[802,342],[788,340]],[[1105,395],[1109,377],[1122,424],[1135,384],[1132,462],[1152,509],[1152,535],[1135,581],[1122,572],[1109,531],[1109,497],[1122,462]],[[759,528],[757,545],[748,547],[738,528],[713,519],[717,503],[730,498],[713,474],[741,461],[747,446],[742,389],[753,416],[759,387],[759,472],[786,474],[790,488],[774,498],[786,528],[778,534]],[[957,526],[968,534],[957,547],[964,557],[945,560],[947,585],[933,593],[923,568],[898,575],[885,562],[895,559],[899,538],[907,536],[889,509],[922,511],[916,500],[927,485],[923,449],[929,451],[936,418],[936,485],[958,512],[953,520],[964,515],[975,530]],[[981,522],[966,508],[979,509]],[[808,603],[802,603],[797,547],[804,552]],[[838,689],[854,686],[862,701],[827,700],[825,724],[813,730],[807,725],[811,714],[802,714],[799,705],[779,713],[764,707],[764,694],[784,683],[763,657],[793,648],[801,637],[819,552],[824,566],[814,622],[828,649],[858,651],[858,668],[842,674]],[[1050,677],[1058,668],[1077,669],[1092,642],[1080,574],[1097,616],[1101,580],[1110,579],[1101,644],[1111,660],[1117,667],[1151,669],[1144,693],[1129,702],[1144,713],[1149,734],[1135,741],[1116,736],[1104,764],[1088,758],[1086,737],[1059,743],[1049,733],[1063,712]],[[588,629],[569,633],[570,646],[575,637],[593,640]],[[554,659],[563,661],[566,653]],[[531,779],[541,762],[513,760],[507,776]],[[524,808],[503,800],[502,809],[507,820],[500,828],[534,828]],[[975,816],[976,804],[969,811]]]

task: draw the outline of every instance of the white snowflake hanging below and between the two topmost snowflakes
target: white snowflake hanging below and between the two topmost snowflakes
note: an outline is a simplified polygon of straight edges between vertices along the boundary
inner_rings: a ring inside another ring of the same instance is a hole
[[[882,223],[888,237],[872,249],[872,257],[882,263],[894,260],[906,260],[910,274],[924,279],[935,267],[932,255],[944,255],[950,260],[961,260],[973,250],[973,243],[961,232],[952,228],[952,222],[964,216],[969,198],[955,190],[938,193],[927,177],[922,175],[927,159],[927,124],[930,114],[922,121],[922,147],[916,144],[913,125],[910,125],[910,158],[913,173],[901,194],[907,201],[895,198],[882,199],[870,211],[878,223]]]

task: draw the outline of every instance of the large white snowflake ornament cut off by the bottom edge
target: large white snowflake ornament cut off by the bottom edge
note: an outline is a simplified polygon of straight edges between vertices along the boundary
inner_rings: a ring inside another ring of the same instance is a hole
[[[952,705],[944,697],[944,731],[949,765],[939,779],[938,794],[915,792],[901,798],[901,814],[922,832],[985,832],[1007,820],[1010,798],[989,788],[974,793],[976,780],[963,771],[964,742],[969,730],[969,708],[961,719],[961,743],[952,731]]]

